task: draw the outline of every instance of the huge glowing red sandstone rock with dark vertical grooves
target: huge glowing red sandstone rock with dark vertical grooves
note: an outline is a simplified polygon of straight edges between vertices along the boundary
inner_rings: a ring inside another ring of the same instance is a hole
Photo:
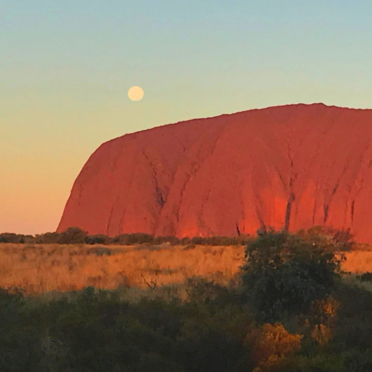
[[[351,229],[372,243],[372,110],[255,109],[127,134],[84,165],[57,231]]]

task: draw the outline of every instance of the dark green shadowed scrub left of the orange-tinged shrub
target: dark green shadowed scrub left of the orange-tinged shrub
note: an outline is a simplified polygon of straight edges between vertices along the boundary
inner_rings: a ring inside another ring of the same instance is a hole
[[[93,287],[55,300],[0,291],[1,371],[243,372],[239,305],[142,299]]]

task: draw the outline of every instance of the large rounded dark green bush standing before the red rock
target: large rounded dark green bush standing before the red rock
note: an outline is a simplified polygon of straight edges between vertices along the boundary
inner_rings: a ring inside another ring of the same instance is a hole
[[[244,292],[258,318],[307,313],[316,300],[335,288],[340,261],[329,245],[287,232],[259,232],[251,241],[242,266]]]

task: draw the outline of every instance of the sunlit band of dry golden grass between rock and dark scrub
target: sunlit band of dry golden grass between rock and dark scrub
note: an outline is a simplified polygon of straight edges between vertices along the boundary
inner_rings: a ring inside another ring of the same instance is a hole
[[[0,244],[0,286],[26,293],[71,291],[90,285],[154,287],[200,276],[226,284],[243,263],[236,246],[103,246]],[[343,270],[372,271],[372,251],[346,253]]]

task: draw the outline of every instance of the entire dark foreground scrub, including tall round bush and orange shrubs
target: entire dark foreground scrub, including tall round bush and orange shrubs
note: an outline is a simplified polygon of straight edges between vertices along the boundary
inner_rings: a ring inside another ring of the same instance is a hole
[[[370,371],[371,275],[342,273],[340,244],[259,233],[224,283],[0,290],[0,371]]]

